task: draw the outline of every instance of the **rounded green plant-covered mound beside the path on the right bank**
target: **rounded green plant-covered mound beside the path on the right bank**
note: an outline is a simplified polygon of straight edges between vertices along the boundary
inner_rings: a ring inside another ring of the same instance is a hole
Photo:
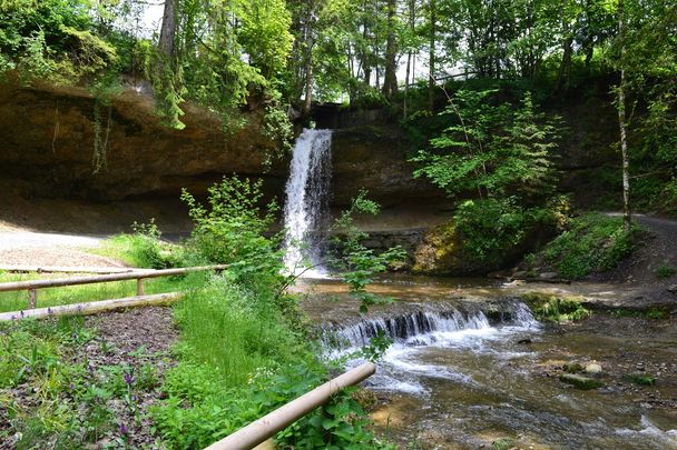
[[[581,279],[614,269],[637,246],[638,228],[622,229],[621,218],[587,213],[540,252],[566,278]]]

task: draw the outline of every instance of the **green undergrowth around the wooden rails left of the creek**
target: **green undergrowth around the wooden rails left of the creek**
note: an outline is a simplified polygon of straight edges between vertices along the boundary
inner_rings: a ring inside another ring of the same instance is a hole
[[[186,266],[232,264],[223,273],[148,281],[148,291],[171,288],[186,292],[174,308],[180,330],[174,348],[177,363],[165,373],[159,388],[164,393],[155,396],[158,400],[148,410],[158,447],[205,448],[316,388],[331,378],[332,371],[342,369],[337,362],[317,357],[320,351],[298,299],[285,293],[291,281],[290,276],[283,274],[279,237],[264,234],[274,207],[267,214],[261,213],[256,207],[259,193],[257,183],[224,179],[209,190],[209,206],[204,208],[185,192],[195,231],[184,248],[174,249],[169,258],[163,254],[159,232],[153,223],[110,243],[115,248],[111,253],[126,254],[135,266],[163,267],[158,257]],[[353,243],[356,251],[347,258],[359,264],[346,266],[346,278],[356,283],[352,291],[361,294],[362,281],[384,270],[386,257],[371,258],[356,241]],[[351,270],[360,271],[362,277],[351,274]],[[55,291],[60,293],[53,297],[40,291],[38,304],[72,302],[82,297],[91,300],[91,289],[66,288]],[[118,296],[110,297],[121,297],[135,284],[120,283],[115,289],[119,290]],[[23,297],[24,292],[19,294]],[[364,307],[371,304],[369,298],[361,300]],[[140,368],[127,372],[124,368],[109,368],[104,374],[91,374],[87,361],[76,357],[77,346],[69,341],[78,336],[77,344],[82,344],[88,342],[82,336],[89,334],[70,329],[49,331],[50,323],[56,322],[20,322],[0,334],[0,397],[3,404],[9,404],[7,412],[0,411],[0,423],[3,419],[10,423],[9,428],[0,426],[0,438],[19,436],[19,447],[26,448],[91,447],[101,439],[107,439],[108,448],[130,448],[128,438],[140,423],[138,410],[134,409],[135,396],[147,384],[155,389],[159,380],[143,377]],[[36,327],[36,333],[27,331],[30,327]],[[369,357],[376,357],[385,344],[371,349]],[[151,376],[153,369],[146,372]],[[20,411],[13,393],[6,393],[6,388],[22,383],[36,392],[37,411]],[[279,446],[392,448],[370,430],[369,417],[354,391],[346,389],[335,394],[324,407],[281,431],[276,436]],[[121,423],[110,402],[134,409],[135,423]],[[40,424],[36,424],[33,416]]]

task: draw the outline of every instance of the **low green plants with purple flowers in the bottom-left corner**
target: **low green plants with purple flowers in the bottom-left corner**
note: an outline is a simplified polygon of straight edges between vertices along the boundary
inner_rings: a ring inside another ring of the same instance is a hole
[[[0,431],[3,442],[86,448],[107,440],[124,447],[120,420],[134,418],[129,432],[140,426],[138,398],[156,387],[155,367],[131,366],[143,358],[138,352],[119,366],[88,361],[86,347],[98,342],[81,318],[23,320],[0,328],[0,398],[8,419]]]

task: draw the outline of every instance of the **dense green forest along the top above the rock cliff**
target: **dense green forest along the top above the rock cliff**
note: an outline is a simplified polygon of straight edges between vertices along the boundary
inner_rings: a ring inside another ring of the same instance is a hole
[[[626,207],[636,184],[644,208],[675,210],[669,2],[11,0],[0,8],[0,71],[24,83],[87,86],[99,127],[110,99],[138,78],[151,81],[167,127],[184,127],[186,101],[222,114],[225,133],[244,126],[238,111],[265,109],[263,132],[282,147],[293,139],[291,121],[314,102],[385,108],[423,151],[420,174],[441,187],[509,158],[493,140],[523,129],[516,121],[544,123],[540,110],[601,97],[618,114],[608,141]],[[149,9],[161,17],[153,22]],[[566,128],[540,132],[528,139],[544,152],[567,139]],[[95,153],[104,151],[98,141]],[[459,149],[463,167],[440,171],[449,162],[442,154]],[[527,184],[543,181],[543,169],[526,174]],[[478,192],[507,181],[480,181]]]

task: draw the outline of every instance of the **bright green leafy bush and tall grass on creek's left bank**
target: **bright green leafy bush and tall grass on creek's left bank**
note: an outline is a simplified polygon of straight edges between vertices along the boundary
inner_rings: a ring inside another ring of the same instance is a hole
[[[262,213],[259,188],[225,178],[209,190],[208,210],[184,192],[195,222],[187,258],[230,269],[175,310],[180,362],[167,376],[167,398],[153,410],[171,448],[204,448],[328,378],[298,319],[297,299],[281,294],[287,279],[281,276],[279,237],[264,237],[276,207]],[[367,423],[359,404],[341,393],[277,439],[297,448],[383,447]]]

